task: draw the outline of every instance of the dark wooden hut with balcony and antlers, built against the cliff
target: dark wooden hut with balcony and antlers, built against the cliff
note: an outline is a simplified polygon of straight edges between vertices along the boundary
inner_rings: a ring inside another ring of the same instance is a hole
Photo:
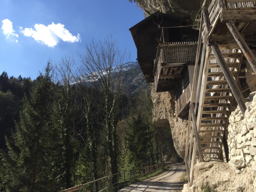
[[[198,32],[189,21],[156,12],[129,29],[137,60],[155,91],[175,91],[176,114],[187,113],[194,74]]]

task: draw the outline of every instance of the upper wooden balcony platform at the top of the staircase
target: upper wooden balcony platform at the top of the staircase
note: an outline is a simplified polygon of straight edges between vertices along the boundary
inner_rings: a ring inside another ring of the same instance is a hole
[[[219,0],[208,1],[208,12],[211,30],[209,41],[214,41],[220,49],[239,48],[236,40],[227,29],[226,21],[232,20],[238,31],[241,33],[247,45],[254,45],[256,42],[256,2],[246,0],[222,0],[224,4],[220,8]],[[202,36],[206,35],[203,24]]]

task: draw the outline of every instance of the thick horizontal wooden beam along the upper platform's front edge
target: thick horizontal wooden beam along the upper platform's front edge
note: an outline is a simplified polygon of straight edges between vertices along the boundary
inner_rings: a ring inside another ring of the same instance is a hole
[[[220,12],[220,21],[226,23],[228,20],[234,20],[236,22],[256,22],[256,10],[255,9],[232,9],[222,10]]]

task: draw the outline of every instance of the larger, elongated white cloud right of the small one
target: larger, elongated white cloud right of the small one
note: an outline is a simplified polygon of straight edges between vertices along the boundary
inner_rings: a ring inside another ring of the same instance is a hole
[[[69,30],[64,28],[64,25],[58,23],[45,26],[42,24],[36,24],[35,30],[32,28],[25,28],[21,31],[25,36],[33,37],[36,41],[42,42],[49,47],[54,47],[60,40],[66,42],[79,42],[81,41],[80,35],[72,35]]]

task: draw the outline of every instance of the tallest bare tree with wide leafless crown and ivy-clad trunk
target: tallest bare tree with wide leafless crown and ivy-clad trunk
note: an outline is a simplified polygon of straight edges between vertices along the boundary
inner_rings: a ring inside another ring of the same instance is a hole
[[[118,172],[117,166],[117,134],[121,95],[126,90],[125,71],[123,63],[127,61],[127,54],[117,48],[112,36],[104,41],[91,41],[86,46],[86,52],[80,55],[80,79],[93,86],[99,95],[97,111],[101,120],[98,121],[105,131],[106,150],[109,155],[111,174]],[[89,75],[88,75],[89,74]],[[116,178],[113,178],[113,182]]]

